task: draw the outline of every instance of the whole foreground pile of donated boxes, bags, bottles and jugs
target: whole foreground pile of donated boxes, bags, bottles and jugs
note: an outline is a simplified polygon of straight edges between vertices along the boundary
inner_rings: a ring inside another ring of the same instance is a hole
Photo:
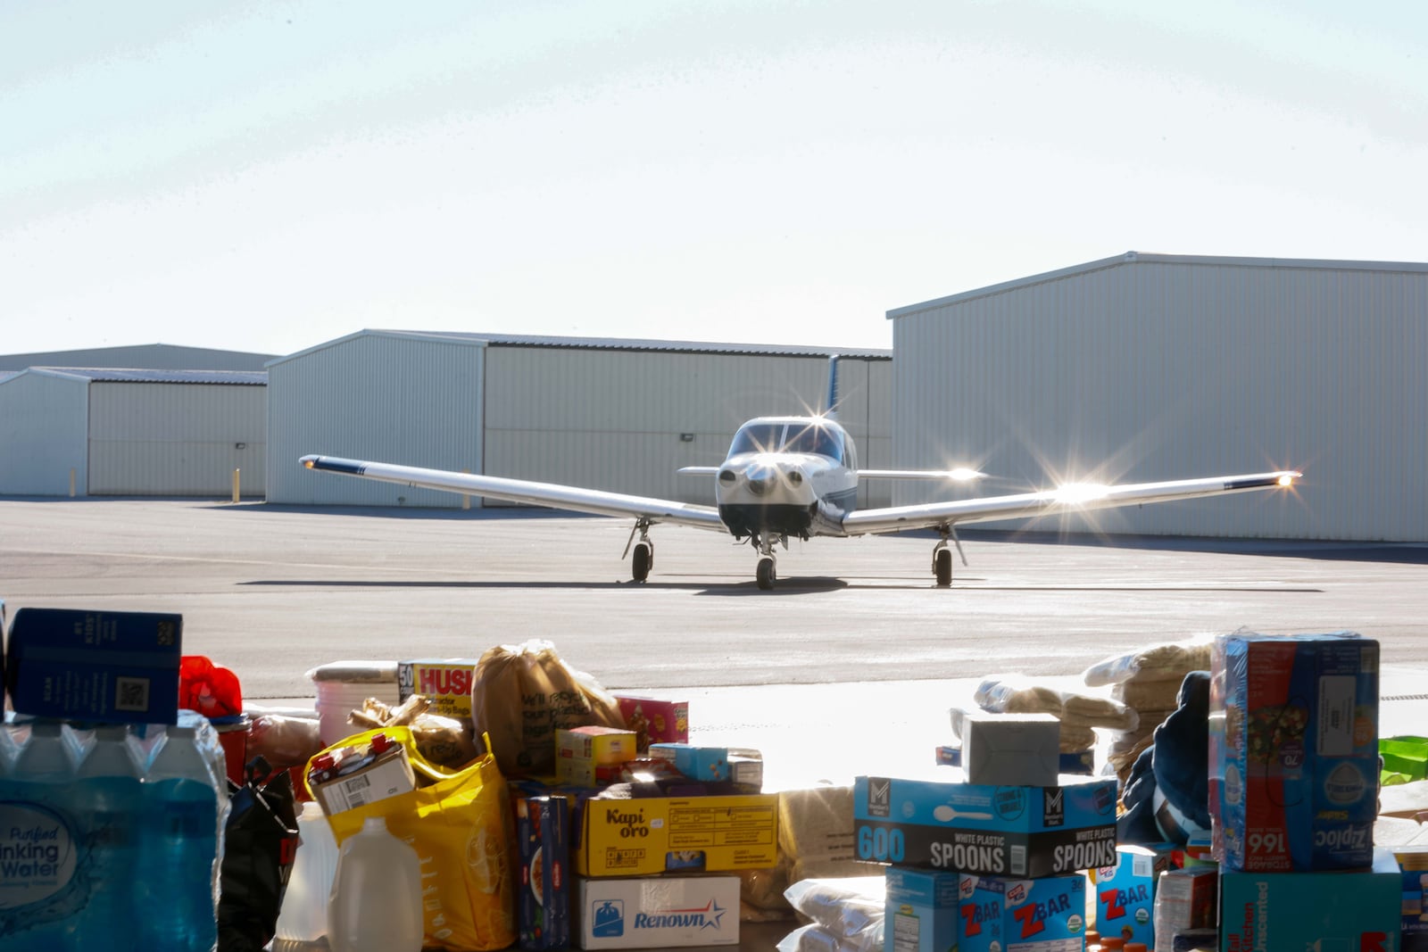
[[[314,711],[244,714],[180,637],[16,612],[0,948],[714,946],[793,913],[780,952],[1428,948],[1428,845],[1375,849],[1378,644],[1349,632],[990,678],[925,765],[773,794],[685,702],[544,641],[334,662]]]

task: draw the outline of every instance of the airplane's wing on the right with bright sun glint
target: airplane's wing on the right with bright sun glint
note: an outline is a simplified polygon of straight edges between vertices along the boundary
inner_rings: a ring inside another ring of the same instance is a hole
[[[1171,482],[1137,482],[1127,485],[1070,484],[1042,492],[894,505],[881,510],[858,510],[843,520],[843,530],[848,535],[865,535],[873,532],[897,532],[900,530],[961,525],[964,522],[988,522],[992,520],[1110,510],[1120,505],[1170,502],[1171,500],[1191,500],[1201,495],[1274,490],[1289,487],[1297,478],[1299,478],[1299,472],[1281,470],[1278,472],[1175,480]]]

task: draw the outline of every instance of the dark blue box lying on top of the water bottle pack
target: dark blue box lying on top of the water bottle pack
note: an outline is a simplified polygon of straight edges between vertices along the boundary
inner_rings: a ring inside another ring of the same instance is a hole
[[[183,615],[21,608],[7,647],[17,714],[174,724]]]

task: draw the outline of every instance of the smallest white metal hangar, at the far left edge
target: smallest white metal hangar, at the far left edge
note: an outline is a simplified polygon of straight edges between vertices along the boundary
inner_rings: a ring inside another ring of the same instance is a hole
[[[184,348],[188,350],[188,348]],[[0,371],[0,495],[263,494],[261,370]]]

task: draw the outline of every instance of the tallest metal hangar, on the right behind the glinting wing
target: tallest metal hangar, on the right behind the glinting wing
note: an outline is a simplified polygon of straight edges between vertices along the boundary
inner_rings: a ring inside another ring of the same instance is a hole
[[[1017,487],[1304,471],[1292,495],[1028,528],[1428,541],[1428,264],[1132,251],[888,320],[901,465]]]

